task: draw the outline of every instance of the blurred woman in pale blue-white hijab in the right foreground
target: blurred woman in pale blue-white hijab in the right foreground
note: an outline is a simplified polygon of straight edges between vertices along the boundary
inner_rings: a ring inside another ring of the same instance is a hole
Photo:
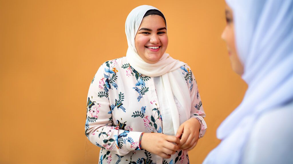
[[[293,1],[226,2],[222,38],[248,90],[204,163],[293,163]]]

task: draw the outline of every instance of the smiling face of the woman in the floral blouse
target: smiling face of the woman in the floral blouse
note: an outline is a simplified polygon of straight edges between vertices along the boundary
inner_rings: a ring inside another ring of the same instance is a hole
[[[152,14],[144,17],[134,38],[139,56],[147,63],[158,62],[168,46],[168,35],[164,19]]]

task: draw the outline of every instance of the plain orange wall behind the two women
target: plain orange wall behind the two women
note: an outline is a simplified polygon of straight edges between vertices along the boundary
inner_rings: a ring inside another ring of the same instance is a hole
[[[219,144],[216,129],[247,88],[220,37],[224,0],[1,0],[1,163],[98,163],[84,135],[88,87],[126,54],[126,17],[146,3],[166,16],[167,52],[193,70],[207,114],[190,163]]]

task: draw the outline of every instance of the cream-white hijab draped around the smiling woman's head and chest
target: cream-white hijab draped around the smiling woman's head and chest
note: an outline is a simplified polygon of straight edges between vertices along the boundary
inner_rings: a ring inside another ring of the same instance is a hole
[[[172,118],[168,118],[168,117],[164,118],[163,116],[163,132],[165,134],[175,135],[180,126],[180,122],[182,122],[182,120],[187,120],[190,117],[190,109],[191,109],[190,94],[189,93],[186,94],[184,91],[179,89],[180,84],[177,83],[178,79],[176,79],[176,76],[174,76],[174,74],[172,73],[172,71],[180,68],[185,63],[180,62],[179,60],[175,60],[169,54],[164,53],[164,55],[161,57],[161,59],[158,62],[154,64],[149,64],[145,62],[144,60],[142,60],[142,58],[138,55],[137,50],[135,48],[134,38],[142,22],[144,14],[151,9],[156,9],[159,11],[159,9],[153,6],[142,5],[142,6],[138,6],[134,8],[127,16],[127,19],[125,22],[125,33],[126,33],[127,43],[128,43],[126,58],[127,58],[127,62],[129,62],[129,64],[140,74],[150,76],[150,77],[162,76],[164,89],[163,89],[163,93],[158,95],[165,95],[167,97],[168,106],[169,106],[167,109],[170,110],[171,117],[172,117]],[[182,83],[182,82],[186,84],[183,78],[182,80],[180,80],[179,83]],[[160,92],[160,90],[157,90],[157,92]],[[185,111],[178,111],[179,109],[177,109],[176,107],[176,103],[174,101],[173,95],[176,96],[176,99],[181,103]],[[162,111],[164,108],[160,107],[160,109],[161,109],[162,115],[166,113]],[[188,112],[186,112],[188,111],[188,109],[189,109],[189,114]],[[179,113],[180,113],[180,118],[179,118]],[[173,123],[173,126],[170,126],[170,122]]]

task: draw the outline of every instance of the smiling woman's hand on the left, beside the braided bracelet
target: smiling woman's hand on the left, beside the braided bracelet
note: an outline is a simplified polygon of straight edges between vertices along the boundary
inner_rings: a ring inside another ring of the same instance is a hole
[[[142,149],[162,158],[171,158],[171,154],[175,154],[179,150],[179,146],[177,146],[179,143],[178,137],[161,133],[144,133],[140,142]]]

